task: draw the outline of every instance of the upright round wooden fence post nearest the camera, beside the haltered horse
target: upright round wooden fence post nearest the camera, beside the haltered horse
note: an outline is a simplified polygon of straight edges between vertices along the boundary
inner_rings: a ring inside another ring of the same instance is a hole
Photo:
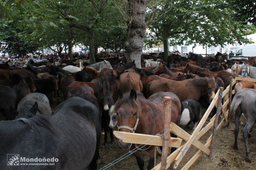
[[[169,139],[171,138],[170,136],[171,100],[172,100],[171,97],[168,97],[168,96],[164,97],[165,117],[164,117],[164,141],[163,141],[162,157],[161,157],[161,170],[166,170],[167,154],[169,149]]]

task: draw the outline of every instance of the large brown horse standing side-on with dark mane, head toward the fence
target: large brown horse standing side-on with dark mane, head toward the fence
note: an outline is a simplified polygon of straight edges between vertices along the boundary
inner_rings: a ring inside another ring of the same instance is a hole
[[[148,84],[147,92],[150,95],[159,91],[169,91],[176,94],[181,101],[188,98],[198,101],[203,95],[209,98],[209,103],[211,103],[211,95],[215,89],[215,81],[207,77],[186,79],[183,81],[174,81],[160,77]]]

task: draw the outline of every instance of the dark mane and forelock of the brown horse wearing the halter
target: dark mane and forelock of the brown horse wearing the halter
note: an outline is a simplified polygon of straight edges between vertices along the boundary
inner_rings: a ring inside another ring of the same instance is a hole
[[[113,115],[116,113],[116,110],[121,107],[121,105],[123,103],[128,103],[130,105],[132,105],[132,107],[136,110],[136,112],[138,114],[141,113],[141,104],[139,103],[139,98],[140,97],[144,97],[142,93],[138,93],[137,92],[137,98],[136,100],[133,100],[132,98],[130,98],[130,92],[126,92],[123,94],[123,97],[120,98],[119,100],[116,101],[116,103],[114,104],[113,107],[110,108],[109,110],[109,115]]]

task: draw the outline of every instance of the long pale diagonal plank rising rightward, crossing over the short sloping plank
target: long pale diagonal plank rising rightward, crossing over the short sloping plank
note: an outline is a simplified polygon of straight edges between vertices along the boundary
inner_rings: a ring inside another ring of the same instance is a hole
[[[183,159],[183,156],[187,153],[188,149],[186,149],[187,147],[190,147],[192,142],[194,141],[194,139],[196,138],[198,132],[200,131],[200,129],[203,127],[207,117],[209,116],[209,114],[211,113],[212,108],[214,107],[215,103],[217,102],[217,98],[219,96],[219,90],[217,91],[217,94],[215,95],[215,97],[213,98],[210,106],[208,107],[208,109],[205,111],[204,116],[201,118],[201,121],[199,122],[199,124],[197,125],[196,129],[193,131],[192,135],[190,136],[189,140],[184,144],[184,147],[182,148],[182,150],[184,150],[183,152],[179,152],[178,156],[175,158],[175,164],[174,164],[174,169],[176,169],[179,165],[179,163],[181,162],[181,160]],[[186,150],[185,150],[186,149]]]

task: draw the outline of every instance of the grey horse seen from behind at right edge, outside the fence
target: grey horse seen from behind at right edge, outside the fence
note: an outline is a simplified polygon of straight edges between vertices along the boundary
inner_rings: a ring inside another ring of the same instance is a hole
[[[245,144],[245,152],[246,157],[245,160],[248,162],[251,162],[251,157],[249,155],[250,148],[248,145],[248,137],[251,136],[251,131],[254,127],[255,121],[256,121],[256,90],[255,89],[242,89],[238,91],[238,93],[233,98],[232,104],[231,104],[231,112],[229,114],[229,122],[232,120],[233,115],[235,114],[235,142],[234,142],[234,148],[238,149],[237,147],[237,136],[239,133],[239,119],[242,113],[244,113],[245,117],[247,118],[247,123],[245,124],[245,127],[243,128],[243,136],[244,136],[244,144]]]

